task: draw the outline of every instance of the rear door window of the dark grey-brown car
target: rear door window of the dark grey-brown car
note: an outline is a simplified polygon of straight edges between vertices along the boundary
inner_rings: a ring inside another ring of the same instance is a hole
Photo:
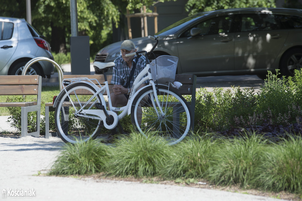
[[[263,31],[280,29],[273,14],[243,14],[241,31]]]

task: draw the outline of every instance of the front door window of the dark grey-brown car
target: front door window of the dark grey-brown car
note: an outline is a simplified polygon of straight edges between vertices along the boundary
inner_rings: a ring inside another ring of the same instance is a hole
[[[230,15],[223,15],[218,17],[213,17],[211,19],[201,21],[194,26],[187,29],[180,37],[190,37],[192,28],[201,29],[200,35],[211,35],[219,33],[229,33],[231,32],[231,25],[233,23],[233,17]]]

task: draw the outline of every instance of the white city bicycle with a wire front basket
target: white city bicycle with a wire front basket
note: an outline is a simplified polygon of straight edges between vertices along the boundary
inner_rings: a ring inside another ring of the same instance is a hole
[[[149,38],[156,41],[150,52],[139,51],[126,56],[141,56],[144,53],[146,60],[149,61],[148,56],[156,47],[158,36],[149,36]],[[145,135],[146,132],[152,133],[167,140],[168,144],[180,142],[191,128],[191,111],[184,97],[174,89],[178,88],[181,83],[158,84],[157,81],[162,80],[158,77],[159,67],[174,66],[174,78],[165,79],[165,81],[174,81],[178,61],[177,57],[161,57],[147,63],[136,77],[129,100],[124,107],[112,107],[111,104],[106,71],[114,66],[113,62],[94,63],[94,66],[104,72],[104,85],[100,83],[97,85],[96,80],[88,78],[64,79],[63,90],[57,96],[53,106],[56,107],[55,124],[60,138],[66,143],[94,139],[100,134],[102,126],[114,129],[118,125],[118,121],[128,114],[131,115],[134,128],[142,135]],[[163,62],[160,62],[160,59]],[[169,67],[167,69],[171,76]],[[146,74],[147,76],[145,76]],[[149,80],[149,85],[137,91],[137,88],[147,80]],[[105,92],[107,92],[110,110],[107,110],[103,97]],[[117,115],[114,111],[118,111],[120,114]]]

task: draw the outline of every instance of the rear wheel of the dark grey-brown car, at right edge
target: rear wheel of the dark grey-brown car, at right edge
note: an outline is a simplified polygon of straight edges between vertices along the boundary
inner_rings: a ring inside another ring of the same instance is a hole
[[[281,74],[294,76],[294,70],[300,70],[302,66],[302,49],[294,48],[286,52],[280,61]]]

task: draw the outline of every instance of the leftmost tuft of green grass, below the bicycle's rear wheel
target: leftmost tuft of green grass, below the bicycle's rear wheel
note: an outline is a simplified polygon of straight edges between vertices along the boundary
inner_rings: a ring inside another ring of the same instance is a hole
[[[104,171],[110,147],[95,140],[66,144],[54,162],[49,175],[90,175]]]

